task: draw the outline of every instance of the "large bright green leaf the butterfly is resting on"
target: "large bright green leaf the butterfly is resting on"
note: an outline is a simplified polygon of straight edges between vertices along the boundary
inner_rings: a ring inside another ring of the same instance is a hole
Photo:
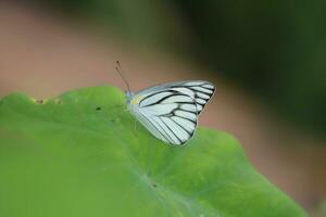
[[[0,101],[0,216],[306,215],[229,135],[200,127],[171,146],[136,123],[121,90],[95,87]]]

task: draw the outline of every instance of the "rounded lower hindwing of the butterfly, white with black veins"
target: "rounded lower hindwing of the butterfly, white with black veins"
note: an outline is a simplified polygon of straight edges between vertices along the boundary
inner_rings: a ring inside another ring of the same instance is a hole
[[[198,112],[188,94],[156,91],[145,97],[137,110],[145,127],[165,142],[181,145],[193,136]]]

